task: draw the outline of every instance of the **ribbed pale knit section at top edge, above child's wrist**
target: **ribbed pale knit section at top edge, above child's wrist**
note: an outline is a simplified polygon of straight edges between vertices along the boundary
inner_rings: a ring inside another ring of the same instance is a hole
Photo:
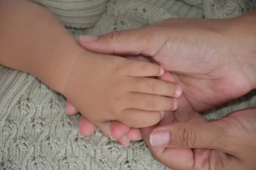
[[[99,20],[108,0],[32,0],[41,4],[65,25],[89,28]]]

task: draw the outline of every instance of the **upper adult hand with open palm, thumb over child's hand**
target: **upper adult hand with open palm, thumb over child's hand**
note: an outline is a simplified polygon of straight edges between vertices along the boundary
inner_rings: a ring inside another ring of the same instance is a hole
[[[220,105],[255,88],[254,15],[221,20],[172,18],[98,39],[81,37],[79,43],[97,53],[151,56],[174,72],[193,108],[178,118],[184,121],[186,116],[186,120],[193,117],[194,111]]]

